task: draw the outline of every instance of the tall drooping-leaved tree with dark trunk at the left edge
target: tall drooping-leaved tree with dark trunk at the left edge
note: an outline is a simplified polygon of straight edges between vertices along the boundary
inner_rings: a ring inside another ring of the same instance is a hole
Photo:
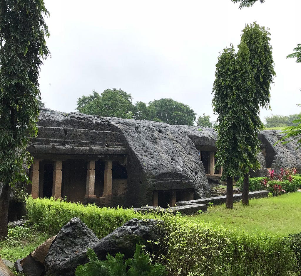
[[[0,238],[7,236],[11,187],[29,182],[23,162],[32,162],[26,144],[37,133],[38,77],[50,55],[43,15],[43,0],[0,1]]]

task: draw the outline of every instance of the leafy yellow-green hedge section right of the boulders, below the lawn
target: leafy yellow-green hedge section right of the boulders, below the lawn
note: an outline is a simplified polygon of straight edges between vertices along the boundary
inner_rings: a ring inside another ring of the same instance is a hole
[[[231,232],[166,213],[152,216],[168,229],[165,248],[152,259],[166,265],[169,276],[285,276],[294,270],[293,252],[283,237]]]

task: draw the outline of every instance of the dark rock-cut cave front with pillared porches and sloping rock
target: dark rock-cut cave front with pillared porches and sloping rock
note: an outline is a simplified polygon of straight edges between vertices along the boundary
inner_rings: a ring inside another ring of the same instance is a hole
[[[38,127],[28,145],[35,160],[30,169],[33,198],[111,207],[174,206],[209,197],[206,174],[221,173],[214,169],[213,129],[49,109],[42,109]],[[277,137],[273,131],[259,135],[263,168],[256,174],[265,174],[267,165],[301,167],[300,150],[294,144],[274,147]]]

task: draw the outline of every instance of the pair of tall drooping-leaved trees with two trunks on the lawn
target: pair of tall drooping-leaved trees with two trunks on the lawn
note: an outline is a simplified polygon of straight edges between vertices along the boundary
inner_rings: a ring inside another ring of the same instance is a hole
[[[269,33],[246,25],[235,53],[225,48],[216,64],[213,107],[218,115],[217,162],[227,178],[227,208],[233,208],[233,177],[244,176],[243,204],[248,205],[249,170],[260,167],[258,132],[263,128],[259,107],[269,106],[273,69]]]

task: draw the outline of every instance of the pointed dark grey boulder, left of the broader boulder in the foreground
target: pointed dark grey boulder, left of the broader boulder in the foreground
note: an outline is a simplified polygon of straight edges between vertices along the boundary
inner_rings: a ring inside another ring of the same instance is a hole
[[[86,263],[87,248],[99,239],[79,218],[73,218],[57,234],[44,265],[48,276],[74,275],[78,265]]]

